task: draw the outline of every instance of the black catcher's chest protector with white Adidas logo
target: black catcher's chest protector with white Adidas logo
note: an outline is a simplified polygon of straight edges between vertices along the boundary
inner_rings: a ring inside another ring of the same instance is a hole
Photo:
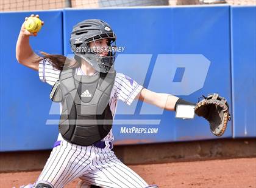
[[[89,146],[107,136],[113,116],[108,101],[116,72],[93,76],[74,75],[74,69],[60,73],[62,115],[59,130],[70,143]]]

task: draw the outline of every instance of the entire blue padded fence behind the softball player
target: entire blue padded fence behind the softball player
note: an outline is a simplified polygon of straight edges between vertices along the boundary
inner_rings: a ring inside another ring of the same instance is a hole
[[[58,108],[49,99],[51,87],[15,59],[20,26],[30,13],[0,13],[1,28],[8,28],[0,33],[0,151],[50,149],[57,139],[57,125],[46,126],[47,119],[59,117],[49,115],[51,108]],[[222,138],[256,136],[256,7],[67,8],[33,13],[45,22],[38,36],[30,39],[36,52],[69,55],[73,25],[88,18],[103,19],[115,30],[117,45],[125,47],[116,59],[117,72],[155,92],[194,102],[218,92],[232,111]],[[176,119],[174,112],[141,101],[131,106],[119,102],[115,118],[115,144],[216,139],[204,119]],[[122,125],[122,119],[136,123]],[[158,133],[121,133],[124,127],[155,128]]]

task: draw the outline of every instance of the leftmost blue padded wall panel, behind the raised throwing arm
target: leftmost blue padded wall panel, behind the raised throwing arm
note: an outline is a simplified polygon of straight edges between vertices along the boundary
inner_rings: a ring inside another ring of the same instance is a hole
[[[35,52],[63,53],[62,11],[33,12],[45,22],[36,38]],[[57,138],[57,126],[46,126],[50,87],[38,72],[16,61],[15,46],[21,25],[32,12],[0,13],[1,29],[1,126],[0,151],[49,149]],[[7,30],[8,28],[8,30]]]

